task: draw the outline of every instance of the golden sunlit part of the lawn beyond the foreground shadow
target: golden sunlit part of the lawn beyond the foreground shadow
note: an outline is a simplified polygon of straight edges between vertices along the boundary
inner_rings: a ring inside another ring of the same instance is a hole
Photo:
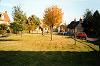
[[[74,45],[74,40],[69,37],[53,35],[53,40],[50,40],[50,35],[41,34],[12,34],[9,37],[0,38],[0,50],[3,51],[93,51],[89,46],[99,51],[99,46],[83,42],[79,40]],[[87,46],[89,45],[89,46]]]

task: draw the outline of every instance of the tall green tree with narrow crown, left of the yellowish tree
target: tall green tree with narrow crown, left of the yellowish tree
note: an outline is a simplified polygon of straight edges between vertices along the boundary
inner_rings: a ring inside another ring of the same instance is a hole
[[[19,31],[21,31],[22,34],[22,31],[25,29],[25,22],[27,19],[25,13],[23,13],[20,6],[14,6],[12,16],[15,22],[12,28],[16,28],[16,32],[19,33]]]

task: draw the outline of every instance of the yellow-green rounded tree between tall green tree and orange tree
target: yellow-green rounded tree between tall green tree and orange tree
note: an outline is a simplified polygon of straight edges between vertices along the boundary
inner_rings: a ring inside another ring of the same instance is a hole
[[[35,15],[32,15],[28,18],[27,22],[27,30],[29,30],[29,33],[31,30],[36,29],[40,25],[40,20]]]

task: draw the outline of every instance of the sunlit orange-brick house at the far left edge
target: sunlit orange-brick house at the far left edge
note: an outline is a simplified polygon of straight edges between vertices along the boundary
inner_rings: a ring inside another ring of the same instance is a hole
[[[0,24],[6,24],[6,25],[10,24],[10,18],[7,14],[7,11],[0,12]]]

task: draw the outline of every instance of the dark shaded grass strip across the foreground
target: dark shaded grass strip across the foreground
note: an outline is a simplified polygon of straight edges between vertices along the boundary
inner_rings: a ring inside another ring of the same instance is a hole
[[[99,52],[0,51],[0,66],[99,66]]]

